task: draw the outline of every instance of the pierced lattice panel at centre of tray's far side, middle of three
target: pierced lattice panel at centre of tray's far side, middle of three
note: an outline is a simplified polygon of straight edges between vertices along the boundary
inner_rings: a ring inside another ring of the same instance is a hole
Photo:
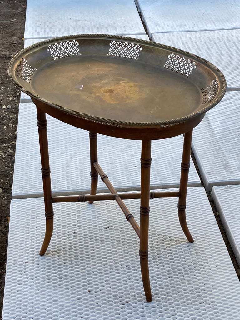
[[[140,44],[122,41],[111,41],[108,55],[138,59],[141,50],[142,47],[140,46]]]

